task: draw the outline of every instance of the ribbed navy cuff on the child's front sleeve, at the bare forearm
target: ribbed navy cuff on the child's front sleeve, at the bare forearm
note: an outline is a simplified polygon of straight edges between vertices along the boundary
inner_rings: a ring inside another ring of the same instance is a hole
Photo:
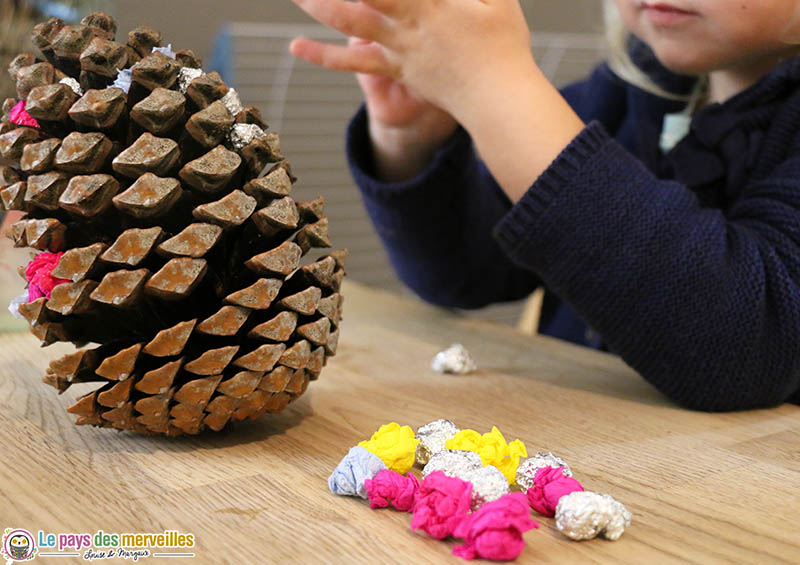
[[[600,122],[593,121],[579,133],[536,179],[522,198],[494,228],[494,237],[509,257],[524,254],[531,231],[570,178],[611,138]]]

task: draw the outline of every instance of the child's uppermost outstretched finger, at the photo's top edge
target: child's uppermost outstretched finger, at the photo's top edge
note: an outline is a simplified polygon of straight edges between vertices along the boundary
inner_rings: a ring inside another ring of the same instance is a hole
[[[344,0],[292,0],[319,23],[345,35],[386,43],[391,29],[386,19],[361,2]]]

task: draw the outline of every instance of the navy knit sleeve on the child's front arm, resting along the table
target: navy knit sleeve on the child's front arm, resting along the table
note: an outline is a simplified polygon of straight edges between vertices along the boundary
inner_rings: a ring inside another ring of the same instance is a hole
[[[704,208],[592,123],[495,236],[676,402],[772,406],[800,388],[798,179],[800,157]]]

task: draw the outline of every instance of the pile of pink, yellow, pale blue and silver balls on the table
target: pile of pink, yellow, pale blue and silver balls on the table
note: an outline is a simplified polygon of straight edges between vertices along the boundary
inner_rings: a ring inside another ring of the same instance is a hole
[[[422,467],[421,480],[411,471]],[[369,499],[371,508],[412,513],[411,528],[437,539],[460,538],[453,554],[507,561],[538,528],[531,509],[555,516],[573,540],[617,540],[631,513],[608,494],[585,491],[567,463],[551,452],[528,457],[520,440],[496,427],[481,434],[449,420],[419,428],[381,426],[342,459],[328,479],[334,494]]]

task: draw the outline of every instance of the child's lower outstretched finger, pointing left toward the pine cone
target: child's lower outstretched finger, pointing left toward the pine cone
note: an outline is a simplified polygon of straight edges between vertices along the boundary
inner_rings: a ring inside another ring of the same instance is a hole
[[[373,43],[366,45],[332,45],[314,39],[297,37],[289,45],[289,51],[320,67],[332,71],[350,71],[355,73],[374,73],[394,76],[394,65],[386,60],[380,46]]]

